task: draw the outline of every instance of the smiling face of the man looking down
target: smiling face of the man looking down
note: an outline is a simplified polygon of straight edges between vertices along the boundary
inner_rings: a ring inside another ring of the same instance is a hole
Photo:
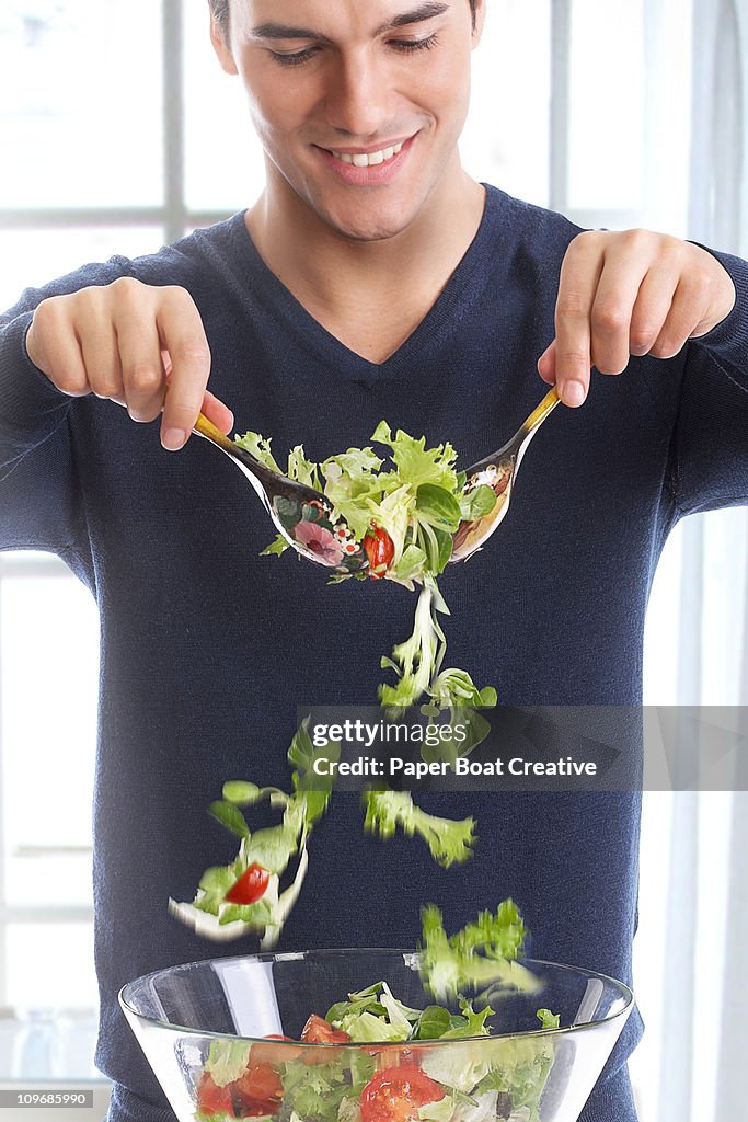
[[[213,25],[268,158],[343,237],[390,238],[459,173],[473,26],[468,0],[232,0]]]

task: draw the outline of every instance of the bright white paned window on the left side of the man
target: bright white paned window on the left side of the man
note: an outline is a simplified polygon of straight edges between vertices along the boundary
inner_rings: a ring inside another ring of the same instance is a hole
[[[210,50],[185,65],[182,44],[194,50],[206,27],[206,8],[194,2],[4,6],[2,307],[84,261],[150,252],[224,218],[244,202],[252,174],[257,185],[251,142],[233,183],[213,180],[223,197],[201,180],[214,166],[201,156],[204,137],[220,148],[239,129],[238,113],[216,108]],[[90,592],[55,558],[0,554],[0,1079],[96,1077],[96,689]]]

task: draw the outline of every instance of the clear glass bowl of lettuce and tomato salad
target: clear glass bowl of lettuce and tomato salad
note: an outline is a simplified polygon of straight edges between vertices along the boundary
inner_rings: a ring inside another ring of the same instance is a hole
[[[532,993],[506,977],[484,993],[490,1036],[381,1039],[403,1011],[413,1033],[428,1036],[435,1018],[441,1034],[450,1015],[464,1032],[465,1004],[437,1002],[408,950],[214,958],[130,982],[120,1004],[179,1122],[576,1122],[634,995],[574,966],[524,966],[535,975]],[[389,1020],[375,1015],[379,999],[363,999],[357,1009],[370,1012],[351,1029],[359,1042],[322,1020],[330,1011],[334,1023],[332,1005],[350,1009],[349,994],[375,990]],[[446,1011],[434,1012],[437,1004]],[[482,1018],[468,1009],[469,1031],[480,1031]],[[538,1018],[541,1009],[550,1013]],[[539,1023],[555,1015],[557,1028]]]

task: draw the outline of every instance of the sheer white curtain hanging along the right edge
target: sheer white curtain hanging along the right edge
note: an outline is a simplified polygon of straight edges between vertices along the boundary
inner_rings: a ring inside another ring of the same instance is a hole
[[[652,4],[648,55],[654,83],[657,48],[663,48],[657,31],[663,29],[666,6],[666,0]],[[693,9],[687,7],[685,18],[692,20],[687,237],[748,256],[748,4],[694,0]],[[656,175],[656,167],[650,174]],[[668,576],[678,574],[676,615],[671,620],[675,674],[671,696],[661,693],[653,701],[748,703],[747,524],[745,509],[689,518],[668,543],[664,565]],[[663,637],[653,636],[655,644],[662,651]],[[744,727],[748,737],[745,721]],[[643,925],[641,955],[652,957],[643,963],[641,973],[650,983],[657,974],[661,978],[658,991],[647,994],[654,1011],[650,1029],[658,1039],[643,1048],[658,1055],[658,1064],[644,1065],[657,1087],[641,1087],[643,1122],[723,1122],[745,1115],[748,794],[739,790],[748,787],[745,761],[740,770],[732,791],[645,798],[645,843],[659,845],[643,846],[647,886],[643,895],[653,899],[659,883],[665,900],[656,917],[662,936],[646,927],[646,919]]]

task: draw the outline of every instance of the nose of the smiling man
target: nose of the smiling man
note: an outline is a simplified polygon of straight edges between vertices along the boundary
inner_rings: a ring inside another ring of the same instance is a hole
[[[335,58],[325,94],[327,121],[347,137],[375,137],[391,117],[387,76],[367,52]]]

